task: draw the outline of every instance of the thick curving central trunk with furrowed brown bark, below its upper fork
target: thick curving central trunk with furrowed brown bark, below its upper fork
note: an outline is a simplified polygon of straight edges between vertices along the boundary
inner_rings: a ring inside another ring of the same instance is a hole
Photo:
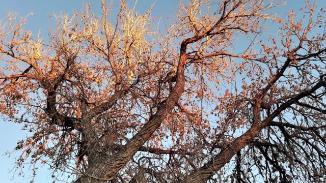
[[[94,160],[89,165],[85,175],[79,177],[75,183],[86,182],[106,182],[113,180],[119,170],[134,156],[139,148],[152,136],[156,129],[159,128],[162,121],[172,111],[172,108],[178,102],[184,90],[184,64],[187,60],[186,43],[181,45],[181,54],[177,70],[177,81],[171,90],[169,97],[160,103],[157,112],[150,117],[144,127],[130,141],[124,145],[121,150],[114,156],[106,159]]]

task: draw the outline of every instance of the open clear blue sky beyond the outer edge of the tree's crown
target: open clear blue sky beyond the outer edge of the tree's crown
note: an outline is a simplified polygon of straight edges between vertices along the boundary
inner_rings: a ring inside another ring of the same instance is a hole
[[[114,0],[117,1],[117,0]],[[0,19],[2,19],[8,11],[17,12],[19,16],[25,16],[30,12],[34,15],[28,18],[27,24],[24,26],[26,29],[33,31],[34,35],[40,30],[41,36],[47,40],[47,33],[49,27],[49,15],[59,12],[72,13],[79,11],[83,3],[88,1],[72,1],[72,0],[57,0],[57,1],[37,1],[37,0],[1,0],[0,6]],[[111,2],[111,1],[109,1]],[[132,0],[127,1],[129,5],[133,5]],[[151,0],[138,0],[137,9],[139,11],[146,11],[152,5]],[[268,0],[266,0],[268,2]],[[282,16],[287,17],[289,9],[298,10],[303,6],[304,0],[288,0],[287,5],[275,9],[275,12]],[[311,1],[313,2],[313,1]],[[172,16],[175,9],[178,7],[179,0],[156,0],[152,16],[165,17],[163,22],[169,23],[166,17]],[[317,7],[325,5],[325,0],[319,0]],[[91,1],[91,7],[94,11],[100,11],[100,0]],[[25,177],[18,177],[13,172],[9,172],[14,167],[14,157],[18,154],[8,158],[5,155],[6,151],[12,151],[16,146],[16,142],[26,136],[26,132],[20,130],[20,126],[7,121],[0,121],[0,182],[29,182],[32,171],[25,170]],[[36,183],[51,182],[50,171],[47,167],[40,167],[38,175],[35,179]]]

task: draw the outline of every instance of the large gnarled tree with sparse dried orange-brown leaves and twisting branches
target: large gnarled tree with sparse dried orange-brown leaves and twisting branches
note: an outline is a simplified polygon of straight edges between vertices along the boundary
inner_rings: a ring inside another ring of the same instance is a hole
[[[55,16],[48,44],[8,13],[0,112],[32,134],[17,167],[76,183],[325,181],[325,11],[282,20],[280,5],[193,0],[159,32],[151,10],[121,1],[115,17],[102,1],[101,16]]]

